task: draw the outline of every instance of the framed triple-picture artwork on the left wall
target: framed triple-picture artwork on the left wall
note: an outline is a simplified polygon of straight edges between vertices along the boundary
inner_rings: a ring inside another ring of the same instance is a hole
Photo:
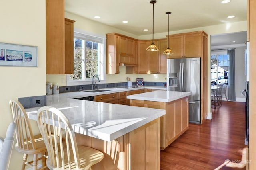
[[[38,47],[0,43],[0,66],[38,66]]]

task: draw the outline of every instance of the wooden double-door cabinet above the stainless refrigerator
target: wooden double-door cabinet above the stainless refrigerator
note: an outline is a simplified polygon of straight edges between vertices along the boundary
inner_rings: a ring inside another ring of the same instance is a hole
[[[169,35],[169,47],[174,53],[169,58],[202,57],[203,36],[208,35],[204,31]]]

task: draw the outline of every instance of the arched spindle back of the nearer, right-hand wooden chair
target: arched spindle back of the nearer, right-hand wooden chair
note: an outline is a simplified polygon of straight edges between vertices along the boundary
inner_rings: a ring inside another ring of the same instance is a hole
[[[80,168],[75,133],[63,113],[54,107],[44,106],[38,110],[37,120],[48,152],[48,159],[50,159],[50,166],[73,169],[72,165],[75,162],[76,168]],[[53,141],[48,137],[50,134],[54,135]],[[65,140],[63,141],[62,139]],[[58,142],[60,142],[59,147],[54,147],[57,146]]]

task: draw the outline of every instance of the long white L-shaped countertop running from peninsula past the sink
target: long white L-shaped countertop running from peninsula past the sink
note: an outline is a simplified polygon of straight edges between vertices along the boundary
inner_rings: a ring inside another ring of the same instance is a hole
[[[93,102],[74,98],[138,90],[142,88],[162,89],[163,87],[157,88],[156,86],[144,86],[130,89],[108,88],[108,90],[111,91],[96,93],[68,92],[47,95],[46,103],[48,106],[56,107],[62,111],[68,121],[70,121],[76,133],[81,133],[104,141],[112,141],[158,117],[161,117],[162,115],[165,115],[165,110]],[[36,120],[36,114],[39,108],[40,107],[26,109],[28,117]]]

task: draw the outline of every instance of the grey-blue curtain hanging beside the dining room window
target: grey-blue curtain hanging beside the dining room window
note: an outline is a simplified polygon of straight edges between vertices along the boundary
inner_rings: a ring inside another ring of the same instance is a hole
[[[236,101],[235,49],[228,49],[228,100]]]

